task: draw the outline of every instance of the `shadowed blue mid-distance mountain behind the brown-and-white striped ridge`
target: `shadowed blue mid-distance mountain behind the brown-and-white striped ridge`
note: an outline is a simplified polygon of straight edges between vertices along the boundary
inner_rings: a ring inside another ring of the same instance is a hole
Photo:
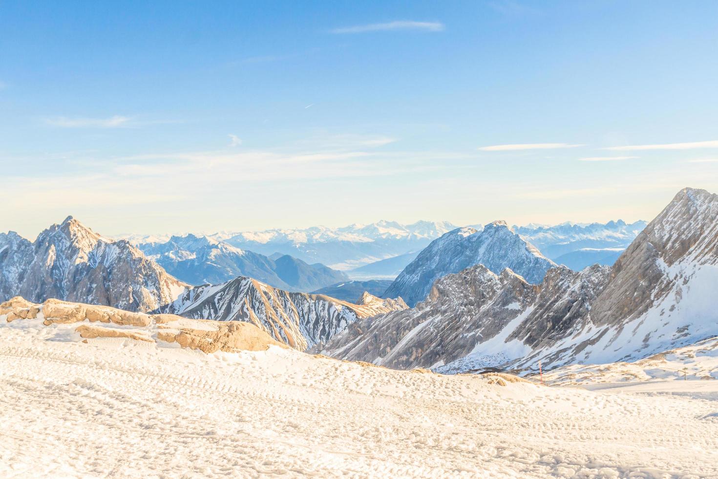
[[[348,280],[341,271],[323,264],[307,264],[289,255],[272,259],[207,236],[172,236],[164,243],[138,247],[172,276],[195,285],[248,276],[276,288],[313,291]]]

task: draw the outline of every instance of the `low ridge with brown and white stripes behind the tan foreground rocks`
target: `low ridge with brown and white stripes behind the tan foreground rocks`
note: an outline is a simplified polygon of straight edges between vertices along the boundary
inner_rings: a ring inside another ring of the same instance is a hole
[[[361,304],[352,304],[320,294],[287,292],[240,276],[223,284],[189,289],[158,312],[251,322],[276,340],[305,350],[329,340],[358,318],[402,308],[406,304],[401,299],[367,294]]]

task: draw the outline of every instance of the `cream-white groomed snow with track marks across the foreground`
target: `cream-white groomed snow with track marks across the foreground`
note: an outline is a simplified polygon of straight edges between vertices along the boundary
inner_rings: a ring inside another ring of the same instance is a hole
[[[718,476],[718,381],[502,386],[76,326],[0,317],[2,478]]]

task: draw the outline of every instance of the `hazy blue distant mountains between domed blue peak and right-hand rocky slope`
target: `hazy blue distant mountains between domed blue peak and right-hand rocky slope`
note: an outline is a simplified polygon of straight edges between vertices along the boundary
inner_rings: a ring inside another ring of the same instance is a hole
[[[611,266],[645,225],[645,221],[627,224],[617,220],[588,225],[568,222],[554,226],[514,225],[511,229],[547,258],[579,271],[596,263]]]

